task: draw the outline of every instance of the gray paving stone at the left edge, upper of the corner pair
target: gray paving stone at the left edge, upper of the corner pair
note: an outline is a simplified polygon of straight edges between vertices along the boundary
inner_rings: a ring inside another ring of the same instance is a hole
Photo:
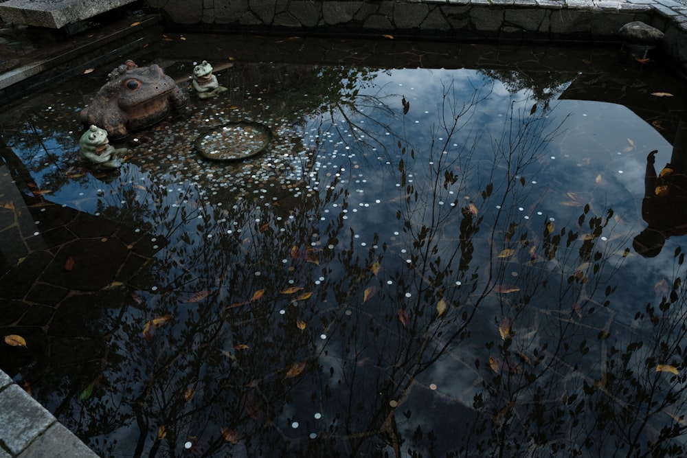
[[[48,426],[55,422],[47,410],[41,407],[26,391],[10,385],[0,391],[0,442],[19,453]]]

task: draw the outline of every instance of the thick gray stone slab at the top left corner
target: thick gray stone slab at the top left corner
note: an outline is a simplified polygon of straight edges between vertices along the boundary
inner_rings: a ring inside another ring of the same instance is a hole
[[[0,3],[5,23],[59,29],[135,0],[8,0]]]

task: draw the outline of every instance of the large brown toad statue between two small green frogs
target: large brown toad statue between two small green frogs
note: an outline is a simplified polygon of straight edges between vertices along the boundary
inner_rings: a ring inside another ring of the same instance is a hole
[[[133,60],[113,69],[87,108],[81,122],[104,128],[111,139],[127,137],[185,108],[186,96],[158,65],[138,67]]]

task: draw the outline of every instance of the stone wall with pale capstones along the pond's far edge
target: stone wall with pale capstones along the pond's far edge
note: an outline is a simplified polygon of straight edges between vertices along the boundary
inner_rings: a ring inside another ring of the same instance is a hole
[[[456,41],[619,41],[642,21],[687,70],[687,7],[673,0],[146,0],[176,30],[425,37]]]

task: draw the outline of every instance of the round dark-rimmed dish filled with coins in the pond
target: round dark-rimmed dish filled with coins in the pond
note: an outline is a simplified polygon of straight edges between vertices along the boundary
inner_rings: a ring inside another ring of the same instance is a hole
[[[272,139],[269,127],[258,122],[230,122],[196,139],[196,150],[213,161],[240,161],[267,149]]]

